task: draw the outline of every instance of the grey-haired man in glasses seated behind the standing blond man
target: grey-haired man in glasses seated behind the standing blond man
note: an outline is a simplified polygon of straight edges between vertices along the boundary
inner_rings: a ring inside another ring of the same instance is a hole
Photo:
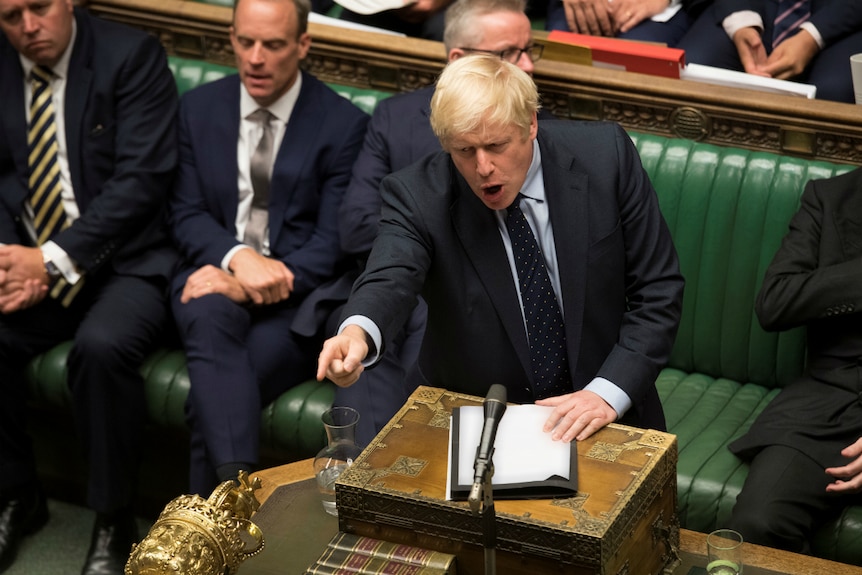
[[[444,43],[449,61],[473,52],[491,52],[532,74],[533,62],[542,51],[533,43],[525,5],[524,0],[454,3],[446,11]],[[341,246],[360,260],[357,271],[364,267],[377,236],[380,181],[440,151],[440,141],[428,120],[433,95],[434,86],[428,86],[387,98],[374,109],[339,214]],[[335,404],[349,405],[361,415],[356,434],[360,445],[368,444],[416,389],[417,375],[411,370],[419,357],[426,318],[427,308],[420,299],[374,369],[363,373],[355,385],[338,388]]]

